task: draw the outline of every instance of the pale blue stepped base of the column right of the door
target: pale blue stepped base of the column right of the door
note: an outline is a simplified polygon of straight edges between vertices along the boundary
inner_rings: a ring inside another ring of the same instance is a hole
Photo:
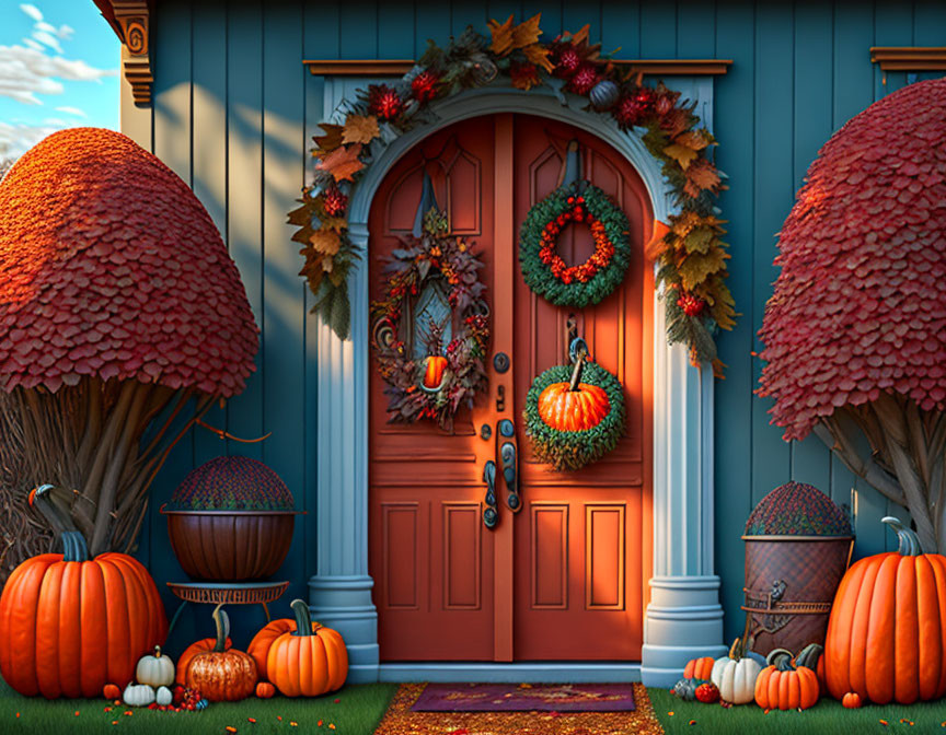
[[[718,576],[655,576],[644,621],[641,680],[672,687],[691,658],[726,653]]]

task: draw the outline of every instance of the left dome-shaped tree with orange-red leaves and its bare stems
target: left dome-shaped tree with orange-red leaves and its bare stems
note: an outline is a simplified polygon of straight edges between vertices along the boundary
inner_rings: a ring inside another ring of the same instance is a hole
[[[0,183],[2,451],[72,489],[94,553],[134,541],[174,419],[243,389],[257,335],[207,211],[128,137],[54,133]]]

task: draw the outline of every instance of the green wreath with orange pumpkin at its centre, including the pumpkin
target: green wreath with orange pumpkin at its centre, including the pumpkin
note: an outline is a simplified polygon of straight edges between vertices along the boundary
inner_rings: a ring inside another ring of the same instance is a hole
[[[555,470],[575,470],[611,452],[624,433],[624,388],[579,349],[574,365],[539,375],[526,396],[526,435]]]

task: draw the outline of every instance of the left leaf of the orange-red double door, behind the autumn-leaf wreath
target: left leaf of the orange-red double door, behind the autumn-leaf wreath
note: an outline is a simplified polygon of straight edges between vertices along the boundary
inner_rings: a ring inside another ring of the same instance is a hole
[[[492,304],[493,158],[492,124],[470,121],[431,136],[394,166],[369,221],[372,300],[383,293],[385,255],[414,226],[426,172],[454,231],[470,237],[486,264],[482,278]],[[483,533],[481,503],[492,445],[475,434],[474,411],[460,411],[452,432],[429,421],[391,424],[376,370],[369,390],[369,572],[381,657],[489,660],[493,537]],[[488,406],[488,396],[477,406]]]

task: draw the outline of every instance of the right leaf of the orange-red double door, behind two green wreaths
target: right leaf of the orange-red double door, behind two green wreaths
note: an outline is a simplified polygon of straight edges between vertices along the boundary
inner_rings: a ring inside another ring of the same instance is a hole
[[[651,230],[646,188],[620,155],[576,128],[517,116],[517,226],[529,209],[552,192],[563,174],[567,142],[581,150],[580,176],[618,202],[631,223],[634,252],[623,283],[600,304],[584,310],[554,306],[532,293],[517,268],[515,330],[517,416],[532,380],[566,359],[566,325],[574,314],[595,360],[624,386],[625,434],[618,447],[577,472],[555,472],[540,464],[520,441],[523,515],[516,529],[516,569],[530,579],[516,583],[516,657],[639,658],[643,640],[644,579],[649,559],[642,542],[644,497],[648,492],[649,406],[645,388],[644,341],[649,307],[645,235]],[[593,250],[586,225],[563,231],[557,244],[566,262]],[[524,438],[523,438],[524,439]],[[566,571],[559,572],[559,564]],[[566,594],[559,592],[562,574]],[[566,634],[559,631],[567,630]]]

